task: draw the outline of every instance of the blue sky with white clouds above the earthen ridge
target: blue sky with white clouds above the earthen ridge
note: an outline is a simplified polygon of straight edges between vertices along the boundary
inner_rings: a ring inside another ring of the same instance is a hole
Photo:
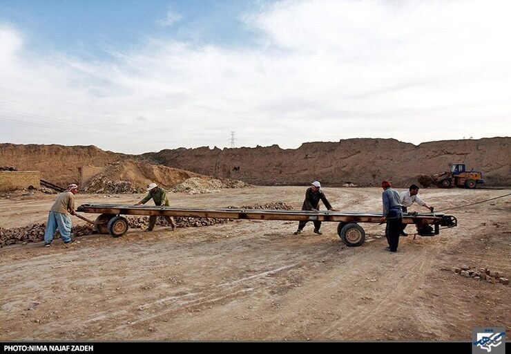
[[[508,0],[0,0],[0,143],[137,154],[511,136],[510,13]]]

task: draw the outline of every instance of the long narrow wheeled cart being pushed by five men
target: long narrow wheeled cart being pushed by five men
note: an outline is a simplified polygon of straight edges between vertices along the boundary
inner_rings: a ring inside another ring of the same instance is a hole
[[[128,220],[121,215],[181,216],[195,218],[232,218],[248,220],[334,221],[337,233],[348,246],[359,246],[365,241],[365,231],[358,223],[380,223],[381,213],[363,212],[309,212],[305,210],[273,209],[198,209],[145,205],[84,204],[77,212],[100,214],[93,222],[97,232],[122,236],[128,231]],[[456,218],[438,213],[405,213],[403,223],[415,224],[421,236],[439,234],[440,227],[454,227]],[[433,231],[434,227],[434,231]]]

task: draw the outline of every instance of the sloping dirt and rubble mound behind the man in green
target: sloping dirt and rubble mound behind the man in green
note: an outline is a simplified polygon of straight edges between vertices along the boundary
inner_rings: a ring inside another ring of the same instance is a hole
[[[174,192],[211,192],[211,189],[247,187],[240,180],[216,179],[183,169],[173,169],[147,162],[124,160],[107,165],[106,169],[83,186],[86,193],[144,193],[146,186],[155,182]]]

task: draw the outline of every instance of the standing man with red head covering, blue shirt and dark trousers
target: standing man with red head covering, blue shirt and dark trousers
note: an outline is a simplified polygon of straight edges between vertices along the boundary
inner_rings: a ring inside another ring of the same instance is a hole
[[[401,232],[401,223],[403,221],[403,205],[401,205],[401,196],[396,189],[392,189],[392,185],[388,180],[381,183],[383,193],[381,194],[383,203],[383,216],[380,218],[381,223],[387,223],[385,227],[385,236],[389,247],[385,250],[397,252],[399,244],[399,233]]]

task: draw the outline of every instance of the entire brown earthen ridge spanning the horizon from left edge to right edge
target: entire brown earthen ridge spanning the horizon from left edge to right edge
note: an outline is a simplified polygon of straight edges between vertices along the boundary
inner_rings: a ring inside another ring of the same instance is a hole
[[[0,145],[0,165],[41,171],[43,179],[66,185],[79,180],[83,165],[106,166],[137,159],[216,178],[255,185],[379,185],[416,183],[418,176],[445,171],[449,162],[465,162],[483,171],[485,185],[511,186],[511,138],[445,140],[413,145],[394,139],[347,139],[307,142],[298,149],[271,147],[235,149],[173,149],[130,156],[97,147],[60,145]]]

